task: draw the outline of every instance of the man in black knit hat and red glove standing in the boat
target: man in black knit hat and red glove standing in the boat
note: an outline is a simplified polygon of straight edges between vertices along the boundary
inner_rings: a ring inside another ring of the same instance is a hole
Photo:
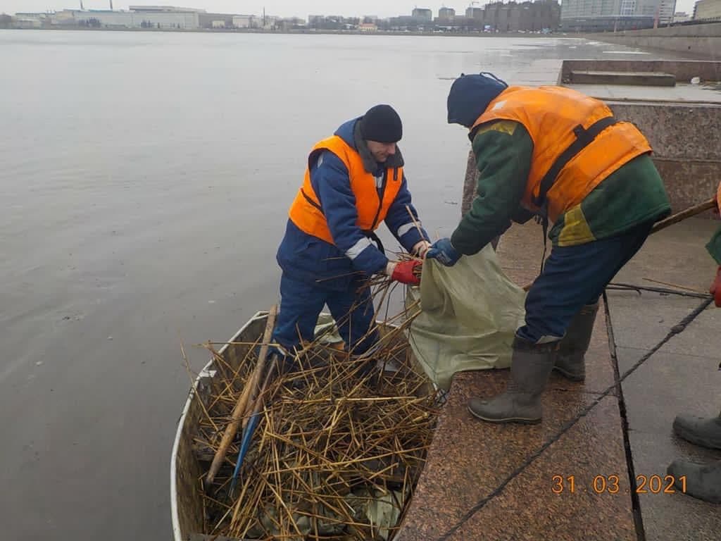
[[[378,336],[369,333],[375,315],[363,283],[374,274],[419,283],[414,268],[420,261],[389,260],[374,233],[385,221],[408,252],[423,256],[430,247],[428,234],[414,223],[397,146],[402,133],[393,107],[376,105],[311,150],[276,256],[283,274],[273,339],[283,355],[313,340],[324,304],[348,351],[365,353]]]

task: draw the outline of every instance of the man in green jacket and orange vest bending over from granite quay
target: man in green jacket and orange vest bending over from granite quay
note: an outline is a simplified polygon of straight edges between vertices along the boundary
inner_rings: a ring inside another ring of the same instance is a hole
[[[552,250],[526,297],[513,341],[510,382],[474,398],[482,421],[537,423],[551,371],[585,377],[598,299],[671,212],[651,147],[609,107],[562,87],[509,87],[492,74],[461,75],[448,94],[448,123],[469,129],[480,172],[477,196],[450,239],[427,258],[454,265],[538,216]],[[545,242],[545,238],[544,238]]]

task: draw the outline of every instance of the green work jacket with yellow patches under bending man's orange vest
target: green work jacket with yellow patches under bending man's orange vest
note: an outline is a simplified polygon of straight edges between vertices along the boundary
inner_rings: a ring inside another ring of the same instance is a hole
[[[477,130],[473,152],[480,172],[477,196],[451,236],[456,250],[479,252],[488,242],[532,214],[521,207],[534,143],[523,124],[497,120]],[[578,205],[560,214],[549,230],[554,246],[582,245],[614,237],[671,214],[671,204],[653,160],[642,154],[596,186]],[[721,248],[721,237],[719,238]],[[721,250],[720,250],[721,253]],[[720,262],[721,263],[721,262]]]

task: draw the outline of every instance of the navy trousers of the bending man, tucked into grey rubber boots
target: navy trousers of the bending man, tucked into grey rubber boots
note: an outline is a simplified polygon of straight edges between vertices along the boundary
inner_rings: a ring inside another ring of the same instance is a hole
[[[595,304],[616,273],[645,242],[653,226],[641,224],[608,239],[553,247],[526,296],[526,325],[516,332],[538,343],[562,338],[585,304]]]

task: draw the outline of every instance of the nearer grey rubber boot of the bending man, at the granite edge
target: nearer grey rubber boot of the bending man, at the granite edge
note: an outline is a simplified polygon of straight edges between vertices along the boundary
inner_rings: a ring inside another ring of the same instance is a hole
[[[469,411],[490,423],[541,421],[541,393],[553,369],[557,349],[558,342],[534,344],[516,336],[505,392],[489,400],[472,398]]]

